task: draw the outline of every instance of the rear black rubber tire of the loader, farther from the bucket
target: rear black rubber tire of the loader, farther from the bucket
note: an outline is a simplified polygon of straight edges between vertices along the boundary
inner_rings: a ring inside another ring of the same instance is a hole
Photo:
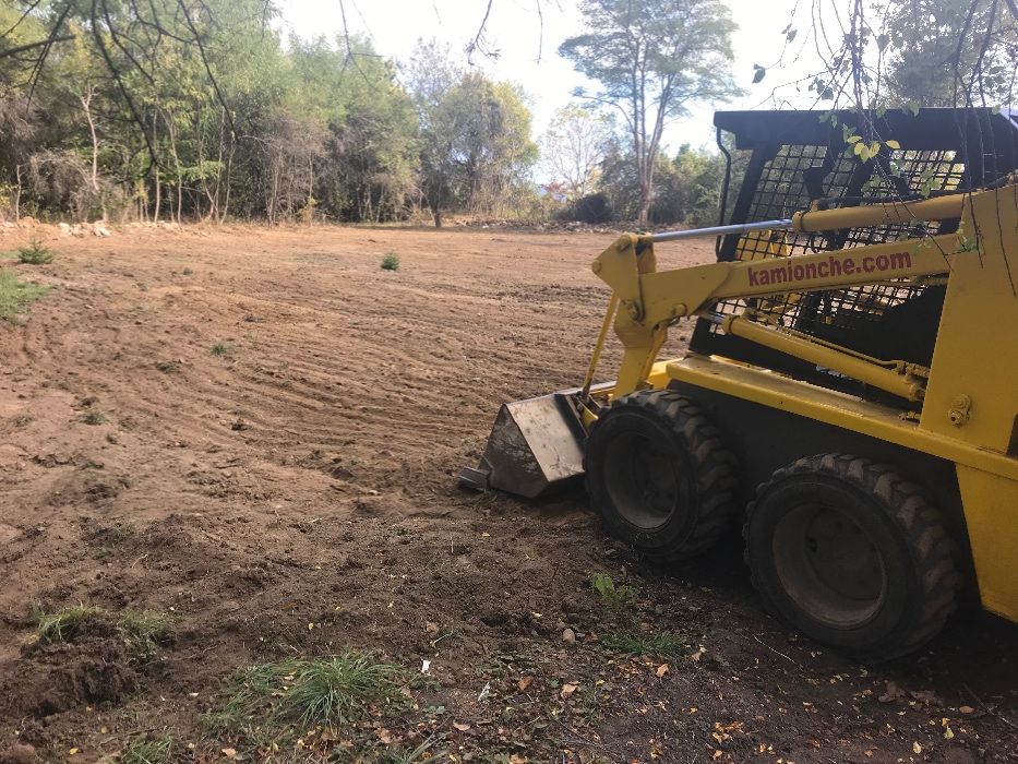
[[[758,488],[743,536],[768,610],[859,659],[915,650],[955,610],[957,548],[943,517],[886,465],[801,458]]]

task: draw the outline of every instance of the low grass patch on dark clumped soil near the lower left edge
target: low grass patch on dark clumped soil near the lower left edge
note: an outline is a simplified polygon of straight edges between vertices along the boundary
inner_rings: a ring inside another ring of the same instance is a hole
[[[107,623],[116,629],[135,657],[146,660],[155,655],[159,643],[169,636],[173,628],[173,619],[156,610],[113,612],[84,604],[52,612],[34,605],[29,617],[35,623],[35,632],[28,637],[29,644],[73,642],[86,624]]]

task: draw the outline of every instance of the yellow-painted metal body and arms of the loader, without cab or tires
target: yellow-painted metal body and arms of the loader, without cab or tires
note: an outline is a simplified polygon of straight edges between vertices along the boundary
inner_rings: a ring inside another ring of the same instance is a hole
[[[1018,184],[927,201],[800,213],[793,230],[959,218],[955,234],[659,272],[652,237],[625,235],[594,263],[613,290],[624,353],[599,405],[672,381],[752,402],[949,462],[983,606],[1018,621]],[[774,240],[774,239],[771,239]],[[946,280],[932,365],[876,359],[767,320],[766,298],[884,282]],[[715,317],[726,333],[886,391],[885,405],[714,356],[659,361],[669,326],[710,317],[723,298],[760,298],[752,317]],[[603,338],[603,335],[602,335]],[[596,355],[599,354],[599,349]],[[663,374],[661,373],[663,369]],[[594,363],[588,372],[594,374]]]

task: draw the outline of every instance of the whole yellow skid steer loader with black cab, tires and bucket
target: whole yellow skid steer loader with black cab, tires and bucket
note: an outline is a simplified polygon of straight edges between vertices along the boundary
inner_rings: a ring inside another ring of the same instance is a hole
[[[738,523],[767,608],[864,659],[926,642],[966,582],[1018,621],[1018,122],[715,122],[751,152],[727,225],[606,249],[586,379],[505,404],[462,481],[532,498],[585,476],[608,529],[661,561]],[[855,131],[875,158],[846,151]],[[717,263],[658,271],[656,247],[705,235]],[[660,359],[686,319],[690,350]],[[612,326],[621,365],[595,385]]]

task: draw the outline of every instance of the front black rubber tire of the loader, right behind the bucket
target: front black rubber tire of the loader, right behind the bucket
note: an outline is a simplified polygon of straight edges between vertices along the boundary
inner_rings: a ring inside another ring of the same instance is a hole
[[[734,467],[718,429],[670,390],[613,402],[584,454],[587,494],[609,532],[661,562],[706,551],[730,527]]]

